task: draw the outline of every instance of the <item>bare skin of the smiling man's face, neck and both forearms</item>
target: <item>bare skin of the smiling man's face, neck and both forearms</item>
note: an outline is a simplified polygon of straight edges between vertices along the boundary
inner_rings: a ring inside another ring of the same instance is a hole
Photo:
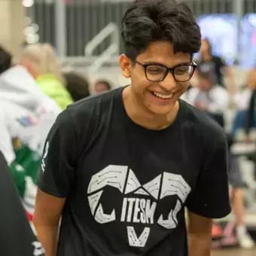
[[[175,54],[172,44],[158,41],[139,54],[137,60],[142,63],[158,62],[172,68],[190,62],[190,55]],[[178,113],[178,99],[187,90],[188,81],[178,83],[170,73],[162,82],[148,81],[144,68],[125,55],[120,56],[120,67],[124,77],[131,79],[131,85],[123,90],[123,102],[129,117],[151,130],[160,130],[173,123]],[[168,100],[157,99],[152,91],[165,95],[173,93],[173,96]],[[46,256],[56,256],[57,230],[64,203],[65,199],[52,197],[38,189],[34,224]],[[188,212],[188,238],[190,256],[208,256],[211,249],[212,220]]]

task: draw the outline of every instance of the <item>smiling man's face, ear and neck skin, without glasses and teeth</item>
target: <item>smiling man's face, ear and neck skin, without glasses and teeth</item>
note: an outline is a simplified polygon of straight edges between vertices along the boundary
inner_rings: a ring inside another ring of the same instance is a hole
[[[139,54],[136,60],[143,64],[154,62],[172,68],[178,64],[190,63],[190,55],[174,54],[172,44],[157,41]],[[151,130],[169,126],[175,120],[179,108],[178,99],[187,90],[188,82],[175,81],[170,72],[163,81],[151,82],[145,77],[145,69],[125,55],[120,56],[119,62],[123,76],[131,79],[130,87],[123,90],[123,102],[130,118]],[[174,94],[172,99],[162,100],[157,99],[151,92]]]

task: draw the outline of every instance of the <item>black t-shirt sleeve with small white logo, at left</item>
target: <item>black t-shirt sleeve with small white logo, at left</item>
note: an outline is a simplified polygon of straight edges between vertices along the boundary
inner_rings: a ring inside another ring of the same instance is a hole
[[[53,197],[66,198],[75,178],[77,136],[69,109],[56,118],[44,145],[38,187]]]

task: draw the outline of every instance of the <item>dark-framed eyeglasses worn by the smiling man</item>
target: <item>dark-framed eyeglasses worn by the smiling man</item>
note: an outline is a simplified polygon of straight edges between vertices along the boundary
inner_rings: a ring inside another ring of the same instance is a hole
[[[186,82],[192,78],[192,75],[197,68],[197,64],[195,62],[192,62],[192,64],[180,64],[174,68],[168,68],[159,63],[143,64],[137,60],[135,62],[145,69],[145,76],[148,81],[151,82],[163,81],[169,72],[172,73],[175,81]]]

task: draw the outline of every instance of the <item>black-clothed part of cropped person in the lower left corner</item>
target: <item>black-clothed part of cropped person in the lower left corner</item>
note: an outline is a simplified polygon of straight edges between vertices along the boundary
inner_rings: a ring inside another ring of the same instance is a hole
[[[32,231],[1,151],[0,204],[0,255],[43,256],[44,249]]]

